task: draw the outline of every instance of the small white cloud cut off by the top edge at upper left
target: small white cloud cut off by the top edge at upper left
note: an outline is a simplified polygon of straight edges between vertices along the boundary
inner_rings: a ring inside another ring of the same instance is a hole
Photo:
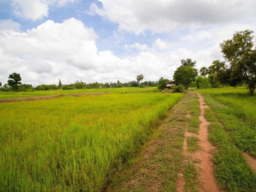
[[[17,17],[36,21],[47,17],[50,6],[64,6],[68,2],[77,0],[10,0],[13,12]]]

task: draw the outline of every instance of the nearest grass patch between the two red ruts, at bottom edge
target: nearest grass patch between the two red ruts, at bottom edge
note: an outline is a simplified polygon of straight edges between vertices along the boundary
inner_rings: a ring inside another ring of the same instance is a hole
[[[200,185],[198,180],[198,167],[195,163],[186,163],[184,167],[184,191],[197,192],[197,187]]]

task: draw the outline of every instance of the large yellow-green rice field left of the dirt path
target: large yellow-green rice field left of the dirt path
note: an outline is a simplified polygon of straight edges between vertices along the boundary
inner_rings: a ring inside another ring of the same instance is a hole
[[[0,191],[99,191],[184,94],[0,104]]]

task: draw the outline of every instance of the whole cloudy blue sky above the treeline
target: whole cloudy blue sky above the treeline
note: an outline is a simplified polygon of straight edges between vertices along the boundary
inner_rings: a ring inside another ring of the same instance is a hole
[[[255,20],[255,0],[0,0],[0,82],[171,80],[181,59],[223,60]]]

